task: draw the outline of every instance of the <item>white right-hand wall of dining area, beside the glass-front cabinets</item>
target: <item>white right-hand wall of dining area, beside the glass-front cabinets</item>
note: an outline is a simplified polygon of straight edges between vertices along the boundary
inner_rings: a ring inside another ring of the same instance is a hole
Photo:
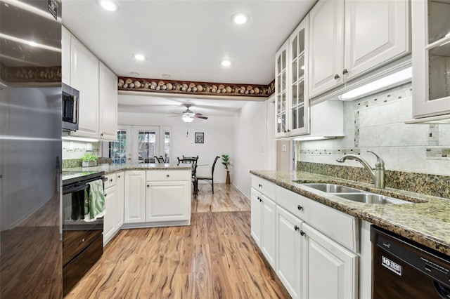
[[[250,198],[250,170],[269,169],[274,159],[271,142],[267,140],[267,125],[271,118],[267,111],[272,105],[266,102],[248,102],[234,118],[234,155],[231,156],[231,182]],[[273,110],[271,112],[273,115]],[[272,124],[270,122],[270,124]],[[269,137],[270,138],[270,137]]]

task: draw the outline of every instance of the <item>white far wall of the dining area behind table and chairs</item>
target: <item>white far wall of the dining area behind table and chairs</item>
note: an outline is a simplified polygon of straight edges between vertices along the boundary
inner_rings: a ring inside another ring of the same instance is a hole
[[[229,154],[233,157],[233,117],[209,117],[208,119],[194,119],[186,124],[181,117],[168,117],[165,114],[120,112],[119,127],[121,125],[139,126],[170,126],[172,128],[172,161],[181,156],[199,156],[198,164],[208,164],[197,168],[198,175],[210,175],[214,157]],[[195,143],[195,132],[205,133],[204,143]],[[188,133],[188,134],[186,134]],[[217,161],[214,171],[214,182],[225,182],[226,171]]]

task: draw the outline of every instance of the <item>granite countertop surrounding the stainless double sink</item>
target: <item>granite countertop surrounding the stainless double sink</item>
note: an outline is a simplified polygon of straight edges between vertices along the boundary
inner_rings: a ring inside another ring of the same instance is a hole
[[[298,194],[390,230],[407,239],[450,255],[450,200],[302,171],[250,171]],[[293,182],[298,181],[298,182]],[[301,185],[330,182],[413,201],[413,204],[364,204]]]

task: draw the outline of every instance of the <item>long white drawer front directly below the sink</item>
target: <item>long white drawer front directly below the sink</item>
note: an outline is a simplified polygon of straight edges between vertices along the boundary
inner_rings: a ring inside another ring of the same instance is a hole
[[[300,194],[276,187],[279,206],[353,252],[359,251],[356,218]]]

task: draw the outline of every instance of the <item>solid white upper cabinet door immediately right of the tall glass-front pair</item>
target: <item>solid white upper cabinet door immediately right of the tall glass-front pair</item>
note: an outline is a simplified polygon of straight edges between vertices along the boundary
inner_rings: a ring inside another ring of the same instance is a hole
[[[321,0],[309,12],[309,97],[343,83],[344,1]]]

